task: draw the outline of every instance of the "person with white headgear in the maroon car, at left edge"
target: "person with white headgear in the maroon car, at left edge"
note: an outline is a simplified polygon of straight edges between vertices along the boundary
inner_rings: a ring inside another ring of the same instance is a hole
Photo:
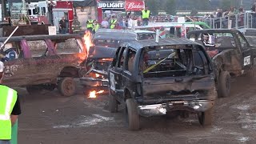
[[[16,53],[12,43],[6,43],[3,49],[3,54],[0,54],[0,58],[2,59],[2,62],[7,62],[18,58],[18,54]]]

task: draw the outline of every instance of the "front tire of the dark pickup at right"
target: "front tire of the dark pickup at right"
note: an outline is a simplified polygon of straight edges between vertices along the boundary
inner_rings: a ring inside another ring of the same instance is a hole
[[[230,73],[222,71],[218,77],[218,97],[226,98],[230,95]]]

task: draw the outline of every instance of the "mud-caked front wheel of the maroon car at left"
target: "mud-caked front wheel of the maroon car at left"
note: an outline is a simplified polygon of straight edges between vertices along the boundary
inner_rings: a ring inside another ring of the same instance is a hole
[[[76,92],[74,78],[62,78],[62,80],[58,82],[58,91],[66,97],[74,95]]]

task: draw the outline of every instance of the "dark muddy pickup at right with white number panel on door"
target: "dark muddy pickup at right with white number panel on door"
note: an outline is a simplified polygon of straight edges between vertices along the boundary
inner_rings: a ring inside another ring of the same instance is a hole
[[[203,35],[209,37],[205,48],[214,62],[218,97],[230,95],[230,78],[242,74],[255,78],[256,46],[250,45],[239,30],[195,30],[187,38],[202,44]]]

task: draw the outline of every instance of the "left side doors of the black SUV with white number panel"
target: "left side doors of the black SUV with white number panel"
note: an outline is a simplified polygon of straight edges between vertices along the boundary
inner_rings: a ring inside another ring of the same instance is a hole
[[[118,101],[122,101],[123,96],[123,62],[126,54],[126,47],[121,46],[118,48],[114,61],[111,64],[109,71],[110,78],[110,92],[112,95],[116,96]]]

